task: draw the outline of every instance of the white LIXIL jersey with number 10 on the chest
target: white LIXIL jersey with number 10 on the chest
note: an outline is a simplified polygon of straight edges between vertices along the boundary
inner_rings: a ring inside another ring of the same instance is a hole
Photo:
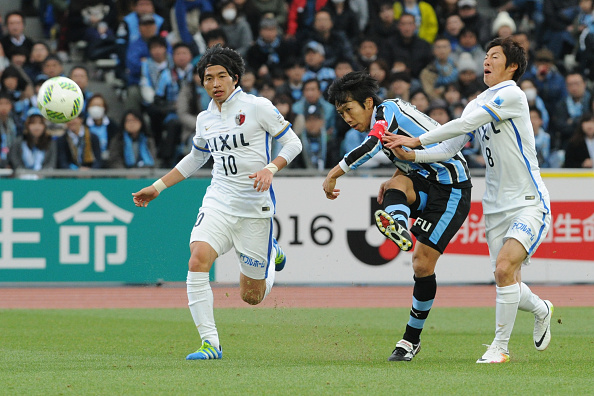
[[[221,111],[211,100],[196,119],[193,139],[194,149],[210,152],[214,160],[202,206],[238,217],[272,217],[276,204],[272,186],[258,192],[249,175],[271,161],[272,138],[280,139],[290,128],[268,99],[246,94],[240,87]]]

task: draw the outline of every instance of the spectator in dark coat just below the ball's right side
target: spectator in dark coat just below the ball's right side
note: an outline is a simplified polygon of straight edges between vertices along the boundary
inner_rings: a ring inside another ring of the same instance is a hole
[[[101,168],[101,145],[97,135],[84,125],[82,116],[65,123],[66,132],[58,138],[58,169]]]

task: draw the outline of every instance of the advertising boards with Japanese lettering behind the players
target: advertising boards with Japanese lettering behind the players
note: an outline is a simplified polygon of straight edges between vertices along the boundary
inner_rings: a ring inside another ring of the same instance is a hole
[[[572,177],[573,176],[573,177]],[[147,208],[131,193],[154,179],[0,180],[0,283],[157,283],[185,280],[188,241],[208,178],[168,189]],[[279,284],[410,284],[412,253],[378,233],[381,181],[343,177],[338,199],[322,177],[277,177],[276,235],[288,255]],[[545,174],[552,227],[523,279],[594,283],[594,176]],[[440,283],[492,282],[484,236],[484,179],[473,178],[472,208],[437,266]],[[211,279],[237,283],[233,252]]]

